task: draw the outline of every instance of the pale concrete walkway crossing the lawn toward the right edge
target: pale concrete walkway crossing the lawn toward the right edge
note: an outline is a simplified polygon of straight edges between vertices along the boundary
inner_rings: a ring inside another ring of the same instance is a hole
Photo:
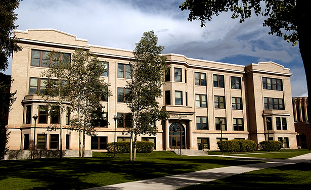
[[[245,173],[249,171],[254,171],[254,170],[283,166],[286,164],[295,164],[299,162],[311,163],[311,153],[289,158],[287,160],[236,157],[236,156],[223,156],[223,157],[243,158],[243,159],[250,159],[250,160],[257,159],[257,160],[264,160],[268,162],[258,163],[258,164],[247,164],[247,165],[241,165],[241,166],[214,168],[214,169],[201,170],[201,171],[184,173],[184,174],[179,174],[179,175],[159,177],[155,179],[147,179],[147,180],[141,180],[141,181],[132,181],[132,182],[127,182],[127,183],[119,183],[119,184],[114,184],[114,185],[95,187],[95,188],[90,188],[90,189],[94,189],[94,190],[95,189],[99,189],[99,190],[104,190],[104,189],[113,189],[113,190],[176,189],[180,187],[185,187],[185,186],[189,186],[193,184],[200,184],[203,182],[213,181],[216,179],[221,179],[221,178],[225,178],[225,177],[229,177],[232,175]]]

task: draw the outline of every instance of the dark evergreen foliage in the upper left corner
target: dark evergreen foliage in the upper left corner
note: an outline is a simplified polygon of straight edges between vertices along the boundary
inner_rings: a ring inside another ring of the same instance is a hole
[[[17,38],[11,37],[13,30],[18,25],[15,25],[17,14],[14,10],[19,7],[20,0],[1,0],[0,1],[0,71],[5,71],[8,68],[8,57],[11,57],[13,52],[21,51],[22,48],[17,45]]]

